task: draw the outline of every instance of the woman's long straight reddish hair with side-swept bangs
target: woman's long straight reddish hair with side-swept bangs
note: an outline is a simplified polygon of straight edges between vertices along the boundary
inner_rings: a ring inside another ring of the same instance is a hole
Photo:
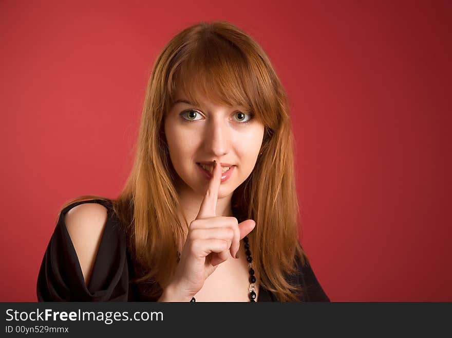
[[[255,168],[233,193],[234,216],[256,221],[249,234],[257,283],[280,301],[298,301],[291,284],[296,256],[306,264],[299,244],[293,135],[286,92],[265,52],[247,33],[223,21],[199,23],[178,33],[157,58],[147,84],[136,157],[116,199],[89,195],[73,199],[112,201],[135,264],[135,282],[149,298],[158,298],[176,268],[177,244],[189,224],[176,210],[177,174],[172,166],[163,120],[176,88],[192,102],[202,94],[214,102],[244,106],[265,126]]]

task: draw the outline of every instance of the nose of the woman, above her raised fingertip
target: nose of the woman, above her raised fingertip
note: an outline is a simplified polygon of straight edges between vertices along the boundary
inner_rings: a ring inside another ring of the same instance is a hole
[[[206,154],[220,158],[228,154],[231,147],[231,127],[227,120],[220,116],[212,117],[206,123],[204,133],[204,151]]]

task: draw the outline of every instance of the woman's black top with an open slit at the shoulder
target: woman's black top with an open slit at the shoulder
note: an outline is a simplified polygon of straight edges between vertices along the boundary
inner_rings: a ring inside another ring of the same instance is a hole
[[[108,218],[91,272],[85,284],[80,263],[64,223],[66,213],[82,203],[99,203],[108,210]],[[149,301],[140,294],[133,276],[133,264],[111,201],[90,200],[68,205],[61,212],[50,238],[37,277],[36,294],[39,301]],[[311,266],[298,262],[296,283],[307,288],[300,301],[330,301],[317,281]],[[259,287],[257,301],[277,301],[275,295]]]

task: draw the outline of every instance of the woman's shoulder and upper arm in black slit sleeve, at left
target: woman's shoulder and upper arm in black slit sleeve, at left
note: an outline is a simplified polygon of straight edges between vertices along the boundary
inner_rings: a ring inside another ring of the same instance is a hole
[[[79,198],[61,208],[37,279],[39,300],[127,300],[126,241],[113,203]]]

